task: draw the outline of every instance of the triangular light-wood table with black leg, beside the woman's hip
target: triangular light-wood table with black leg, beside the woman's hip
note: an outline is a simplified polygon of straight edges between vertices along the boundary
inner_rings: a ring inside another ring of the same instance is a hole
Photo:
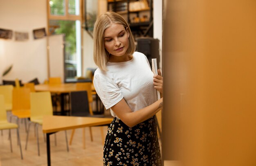
[[[113,118],[91,118],[77,116],[45,116],[43,117],[43,133],[46,133],[47,165],[51,165],[50,135],[58,131],[80,127],[110,124]]]

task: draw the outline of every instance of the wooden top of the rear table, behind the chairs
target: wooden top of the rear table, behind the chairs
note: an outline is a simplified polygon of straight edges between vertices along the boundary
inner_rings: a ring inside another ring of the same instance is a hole
[[[76,83],[63,83],[59,85],[50,85],[50,84],[39,84],[35,85],[36,91],[49,91],[53,93],[69,93],[78,91],[76,89]],[[92,91],[95,91],[95,88],[92,84]]]

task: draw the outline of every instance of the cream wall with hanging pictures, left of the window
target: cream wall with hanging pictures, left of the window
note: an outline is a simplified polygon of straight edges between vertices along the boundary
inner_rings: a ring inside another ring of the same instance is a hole
[[[0,83],[2,79],[21,79],[23,82],[37,77],[47,78],[46,39],[34,39],[33,29],[47,27],[45,0],[1,0],[0,28],[28,32],[29,40],[18,42],[0,39]],[[4,69],[13,64],[9,74],[2,78]]]

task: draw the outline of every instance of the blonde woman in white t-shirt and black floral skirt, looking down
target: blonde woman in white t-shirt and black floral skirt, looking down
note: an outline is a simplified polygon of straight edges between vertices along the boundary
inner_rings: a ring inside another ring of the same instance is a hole
[[[135,52],[130,27],[121,15],[107,12],[94,25],[94,86],[115,117],[103,152],[104,166],[160,166],[154,115],[162,109],[163,77],[154,75],[146,56]]]

